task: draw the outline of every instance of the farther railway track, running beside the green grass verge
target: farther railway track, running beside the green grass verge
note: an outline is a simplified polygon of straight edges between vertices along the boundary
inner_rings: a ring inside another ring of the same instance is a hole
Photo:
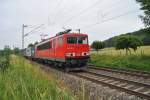
[[[131,69],[123,69],[123,68],[108,68],[108,67],[98,67],[94,65],[88,65],[89,69],[95,69],[95,70],[103,70],[108,72],[114,72],[119,74],[126,74],[131,76],[137,76],[142,77],[144,79],[150,79],[150,73],[146,71],[139,71],[139,70],[131,70]]]

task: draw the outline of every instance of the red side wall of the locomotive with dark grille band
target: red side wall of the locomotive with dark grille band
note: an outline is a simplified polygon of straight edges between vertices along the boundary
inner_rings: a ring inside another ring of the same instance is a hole
[[[35,50],[35,57],[53,61],[65,61],[64,37],[55,37],[48,42],[38,44]]]

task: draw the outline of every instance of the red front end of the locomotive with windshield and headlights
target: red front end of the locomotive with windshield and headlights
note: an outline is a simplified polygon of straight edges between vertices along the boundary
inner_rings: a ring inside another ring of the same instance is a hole
[[[65,58],[68,63],[85,66],[89,56],[88,36],[86,34],[66,34]]]

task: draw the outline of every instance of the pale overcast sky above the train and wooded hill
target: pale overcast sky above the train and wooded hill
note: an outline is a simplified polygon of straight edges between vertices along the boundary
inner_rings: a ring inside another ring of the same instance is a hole
[[[0,0],[0,49],[4,45],[21,47],[22,24],[25,33],[44,24],[25,38],[25,45],[40,41],[40,34],[54,36],[64,28],[93,40],[139,30],[144,27],[142,11],[135,0]]]

